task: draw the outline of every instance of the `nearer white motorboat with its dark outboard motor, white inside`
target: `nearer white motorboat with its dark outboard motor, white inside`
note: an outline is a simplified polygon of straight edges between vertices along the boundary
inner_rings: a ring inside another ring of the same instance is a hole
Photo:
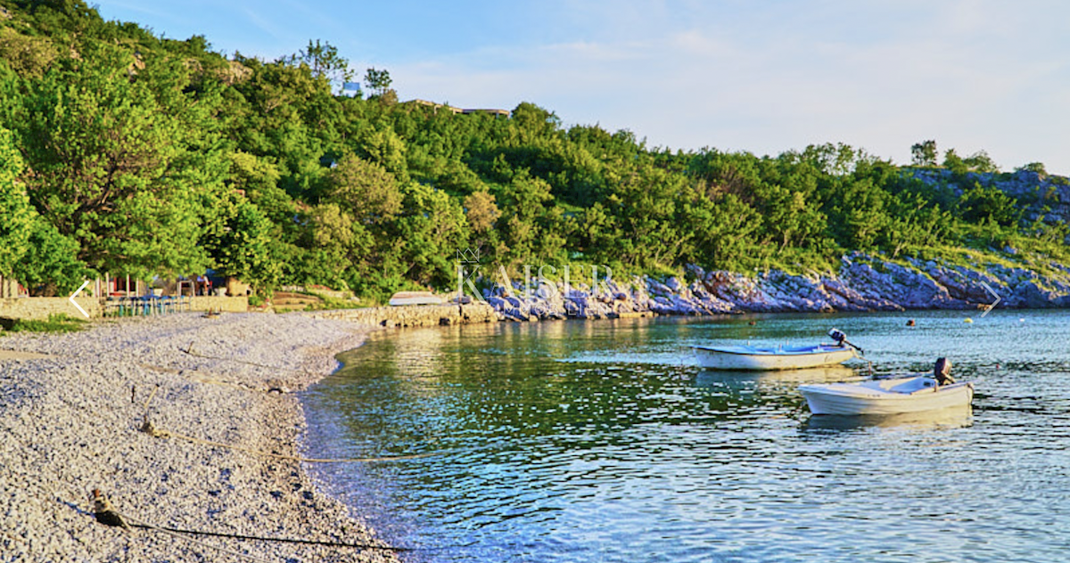
[[[951,362],[936,360],[931,375],[869,379],[854,384],[799,386],[814,415],[899,415],[969,405],[974,384],[956,382]]]

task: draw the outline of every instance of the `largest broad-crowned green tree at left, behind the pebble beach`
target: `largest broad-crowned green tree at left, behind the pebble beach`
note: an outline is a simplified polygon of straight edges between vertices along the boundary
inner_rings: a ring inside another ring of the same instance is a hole
[[[81,57],[31,83],[12,124],[33,171],[31,202],[97,271],[200,269],[199,194],[226,171],[213,100],[183,92],[179,64],[132,79],[119,49]]]

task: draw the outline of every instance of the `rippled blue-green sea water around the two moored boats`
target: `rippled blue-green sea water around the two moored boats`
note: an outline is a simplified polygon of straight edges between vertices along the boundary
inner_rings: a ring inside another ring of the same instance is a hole
[[[865,363],[717,373],[689,349],[832,327],[878,373],[948,357],[972,412],[811,417],[798,385]],[[406,561],[1070,560],[1067,311],[501,323],[376,335],[342,359],[303,397],[306,453],[433,454],[311,467],[419,548]]]

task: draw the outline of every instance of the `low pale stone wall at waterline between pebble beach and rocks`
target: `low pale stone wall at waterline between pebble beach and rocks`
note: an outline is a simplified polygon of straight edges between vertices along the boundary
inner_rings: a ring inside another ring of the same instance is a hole
[[[369,327],[432,327],[469,323],[493,323],[502,316],[487,303],[369,307],[310,313],[316,318],[348,320]]]

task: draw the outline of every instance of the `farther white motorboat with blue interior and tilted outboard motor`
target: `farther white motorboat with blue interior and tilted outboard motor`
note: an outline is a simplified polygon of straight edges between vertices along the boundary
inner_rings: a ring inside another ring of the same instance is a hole
[[[692,346],[699,365],[706,370],[801,370],[836,365],[860,358],[862,349],[847,342],[846,334],[831,329],[835,344],[811,346]]]

